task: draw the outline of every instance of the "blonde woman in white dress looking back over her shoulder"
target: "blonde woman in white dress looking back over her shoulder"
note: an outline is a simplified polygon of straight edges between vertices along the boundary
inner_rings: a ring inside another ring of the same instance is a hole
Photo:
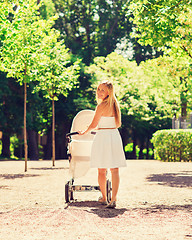
[[[93,140],[90,164],[91,167],[98,168],[98,183],[102,193],[99,202],[108,208],[115,208],[119,188],[119,167],[126,166],[122,141],[117,129],[121,126],[121,112],[111,82],[99,84],[96,98],[98,105],[93,121],[85,131],[79,131],[79,134],[86,134],[98,127]],[[112,176],[112,198],[109,204],[106,197],[107,168],[110,168]]]

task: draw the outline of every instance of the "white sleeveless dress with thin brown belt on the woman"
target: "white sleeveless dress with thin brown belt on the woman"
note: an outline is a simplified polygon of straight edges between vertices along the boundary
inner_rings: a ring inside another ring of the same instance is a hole
[[[90,167],[119,168],[126,167],[123,144],[115,117],[101,117],[92,144]]]

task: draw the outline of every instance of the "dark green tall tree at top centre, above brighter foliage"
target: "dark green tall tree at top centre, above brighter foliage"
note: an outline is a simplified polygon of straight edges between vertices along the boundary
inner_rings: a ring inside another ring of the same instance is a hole
[[[131,23],[126,0],[53,0],[59,15],[55,28],[66,46],[86,65],[95,56],[107,56],[122,37],[129,36]]]

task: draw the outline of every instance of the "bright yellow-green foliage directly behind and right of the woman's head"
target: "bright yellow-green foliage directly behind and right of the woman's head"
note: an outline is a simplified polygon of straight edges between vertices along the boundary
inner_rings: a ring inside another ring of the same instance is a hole
[[[168,112],[168,107],[164,107],[163,92],[156,97],[158,87],[161,86],[159,90],[161,91],[165,77],[167,81],[169,77],[165,72],[161,73],[160,69],[156,70],[152,64],[149,66],[147,62],[137,66],[136,62],[128,61],[117,53],[111,53],[106,58],[95,58],[94,64],[90,65],[87,71],[92,74],[94,87],[101,80],[113,82],[123,114],[134,116],[137,120],[150,121],[162,118],[163,115],[170,116],[170,111]]]

